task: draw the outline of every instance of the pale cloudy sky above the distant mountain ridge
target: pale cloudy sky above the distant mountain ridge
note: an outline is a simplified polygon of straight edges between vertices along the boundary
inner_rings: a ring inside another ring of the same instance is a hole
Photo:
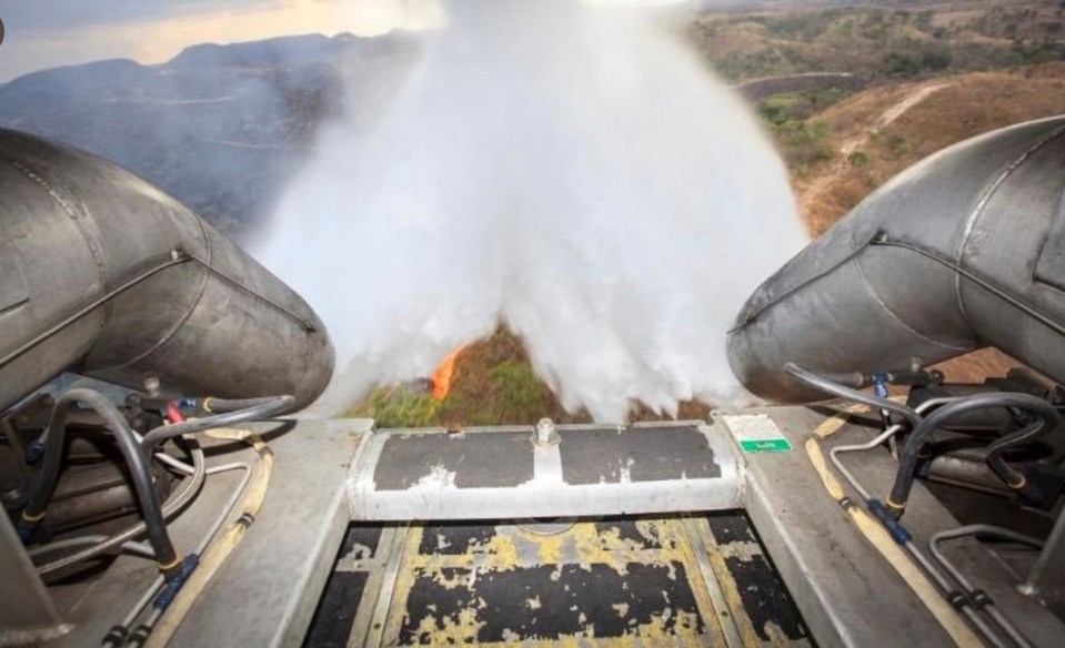
[[[188,45],[441,24],[446,0],[0,0],[0,83],[101,59],[162,63]],[[464,0],[491,1],[491,0]],[[530,0],[535,1],[535,0]],[[662,4],[677,0],[585,0]]]

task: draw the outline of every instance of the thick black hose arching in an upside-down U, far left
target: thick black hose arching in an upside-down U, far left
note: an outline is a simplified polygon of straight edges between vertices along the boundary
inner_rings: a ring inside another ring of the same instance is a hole
[[[30,496],[29,504],[22,512],[22,520],[36,526],[44,516],[44,509],[56,489],[59,476],[59,466],[62,462],[63,445],[67,437],[67,416],[71,408],[81,403],[103,418],[104,425],[114,435],[119,449],[129,466],[133,480],[133,489],[140,503],[141,514],[148,527],[148,538],[155,551],[155,560],[164,574],[168,567],[180,565],[174,551],[173,543],[167,533],[167,523],[163,519],[162,507],[155,498],[155,488],[152,484],[151,472],[148,468],[147,456],[141,452],[133,431],[125,423],[125,418],[106,396],[92,389],[71,389],[56,401],[48,421],[48,442],[44,449],[44,465],[41,468],[40,479]]]

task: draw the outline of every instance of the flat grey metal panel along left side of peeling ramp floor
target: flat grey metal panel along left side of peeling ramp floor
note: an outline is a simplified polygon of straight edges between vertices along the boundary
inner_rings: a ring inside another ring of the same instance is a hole
[[[199,646],[205,637],[215,646],[302,644],[348,527],[344,477],[369,423],[305,421],[270,441],[270,495],[173,646]],[[234,618],[238,610],[243,619]]]

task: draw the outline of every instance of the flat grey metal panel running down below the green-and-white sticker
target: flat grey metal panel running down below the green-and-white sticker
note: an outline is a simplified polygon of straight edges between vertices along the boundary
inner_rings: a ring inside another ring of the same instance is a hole
[[[824,493],[801,449],[823,415],[797,407],[765,412],[800,449],[745,456],[744,507],[817,645],[864,648],[892,637],[898,646],[950,646],[938,622]],[[724,424],[719,429],[727,434]]]

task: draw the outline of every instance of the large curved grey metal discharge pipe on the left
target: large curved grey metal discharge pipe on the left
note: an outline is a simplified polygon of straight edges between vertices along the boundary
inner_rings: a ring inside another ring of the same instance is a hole
[[[185,395],[290,393],[299,407],[332,365],[310,306],[178,201],[0,130],[0,411],[68,368]]]

